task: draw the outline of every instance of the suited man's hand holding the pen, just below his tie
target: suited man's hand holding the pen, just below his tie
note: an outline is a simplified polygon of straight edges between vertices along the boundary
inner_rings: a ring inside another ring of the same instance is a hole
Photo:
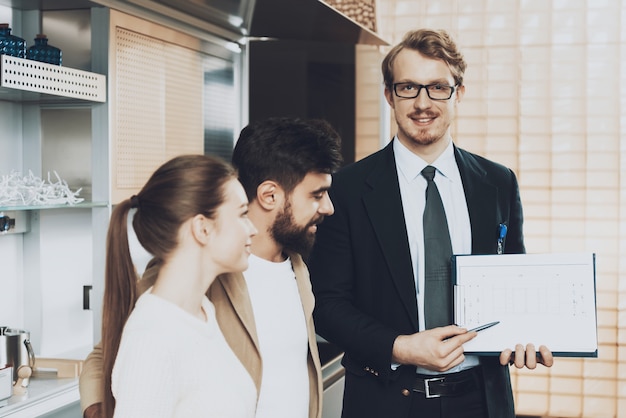
[[[463,344],[476,335],[456,325],[399,335],[393,343],[392,361],[445,372],[465,360]]]

